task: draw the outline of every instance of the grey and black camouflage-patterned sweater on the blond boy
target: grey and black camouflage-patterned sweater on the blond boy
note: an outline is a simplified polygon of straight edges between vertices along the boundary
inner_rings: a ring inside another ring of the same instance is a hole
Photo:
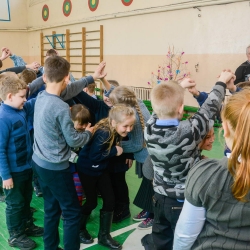
[[[154,165],[155,192],[184,198],[186,176],[199,160],[197,146],[209,131],[209,120],[220,110],[225,87],[225,83],[216,83],[199,111],[178,126],[156,125],[156,115],[147,122],[144,136]]]

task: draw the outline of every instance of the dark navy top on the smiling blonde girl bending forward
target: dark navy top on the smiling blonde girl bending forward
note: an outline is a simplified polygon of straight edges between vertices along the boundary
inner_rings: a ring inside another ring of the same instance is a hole
[[[97,130],[91,140],[82,148],[77,161],[78,171],[91,175],[101,175],[108,167],[111,157],[116,156],[117,149],[113,145],[107,152],[109,132]]]

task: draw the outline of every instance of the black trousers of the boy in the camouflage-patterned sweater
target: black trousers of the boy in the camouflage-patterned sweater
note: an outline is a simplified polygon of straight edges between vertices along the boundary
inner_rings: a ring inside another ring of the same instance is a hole
[[[172,250],[174,229],[183,202],[155,193],[153,197],[154,222],[152,236],[156,250]]]

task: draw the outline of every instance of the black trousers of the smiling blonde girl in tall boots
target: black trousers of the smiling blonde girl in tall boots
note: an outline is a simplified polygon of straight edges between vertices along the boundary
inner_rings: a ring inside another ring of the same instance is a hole
[[[115,207],[114,191],[108,172],[102,173],[100,176],[90,176],[78,171],[86,202],[82,207],[82,213],[85,215],[91,214],[92,210],[97,206],[97,189],[100,191],[103,206],[102,210],[113,212]]]

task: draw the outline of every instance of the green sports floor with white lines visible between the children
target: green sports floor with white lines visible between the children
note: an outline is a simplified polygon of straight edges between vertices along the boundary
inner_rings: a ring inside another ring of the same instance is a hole
[[[223,157],[223,150],[224,150],[224,140],[222,133],[219,131],[220,129],[215,128],[215,135],[216,135],[216,140],[213,144],[213,149],[210,152],[203,152],[204,155],[208,156],[209,158],[222,158]],[[132,204],[134,197],[136,195],[136,192],[140,186],[141,179],[138,179],[137,176],[135,175],[135,169],[132,167],[128,172],[127,172],[127,183],[129,186],[129,194],[130,194],[130,210],[131,210],[131,215],[137,214],[140,212],[140,208],[136,207],[135,205]],[[37,211],[34,213],[34,218],[36,219],[35,224],[38,226],[43,226],[43,198],[38,198],[33,195],[32,207],[35,207]],[[93,236],[93,238],[97,237],[98,234],[98,229],[99,229],[99,210],[102,206],[102,200],[101,198],[98,198],[98,207],[92,212],[89,223],[87,225],[89,233]],[[1,221],[1,226],[0,226],[0,250],[5,250],[5,249],[17,249],[17,248],[11,248],[8,243],[7,239],[9,237],[6,224],[5,224],[5,203],[0,203],[0,221]],[[113,224],[112,225],[112,235],[114,238],[119,241],[120,243],[123,243],[127,237],[135,230],[138,222],[134,222],[132,218],[128,218],[120,223]],[[62,244],[62,235],[63,235],[63,229],[62,229],[62,221],[60,223],[60,228],[59,228],[59,233],[61,237],[61,247],[63,247]],[[37,248],[38,250],[43,249],[43,240],[42,237],[37,237],[37,238],[32,238],[33,240],[36,241],[37,243]],[[138,239],[140,241],[140,239]],[[88,249],[88,250],[107,250],[108,248],[99,246],[98,244],[95,243],[93,245],[81,245],[81,250],[82,249]]]

